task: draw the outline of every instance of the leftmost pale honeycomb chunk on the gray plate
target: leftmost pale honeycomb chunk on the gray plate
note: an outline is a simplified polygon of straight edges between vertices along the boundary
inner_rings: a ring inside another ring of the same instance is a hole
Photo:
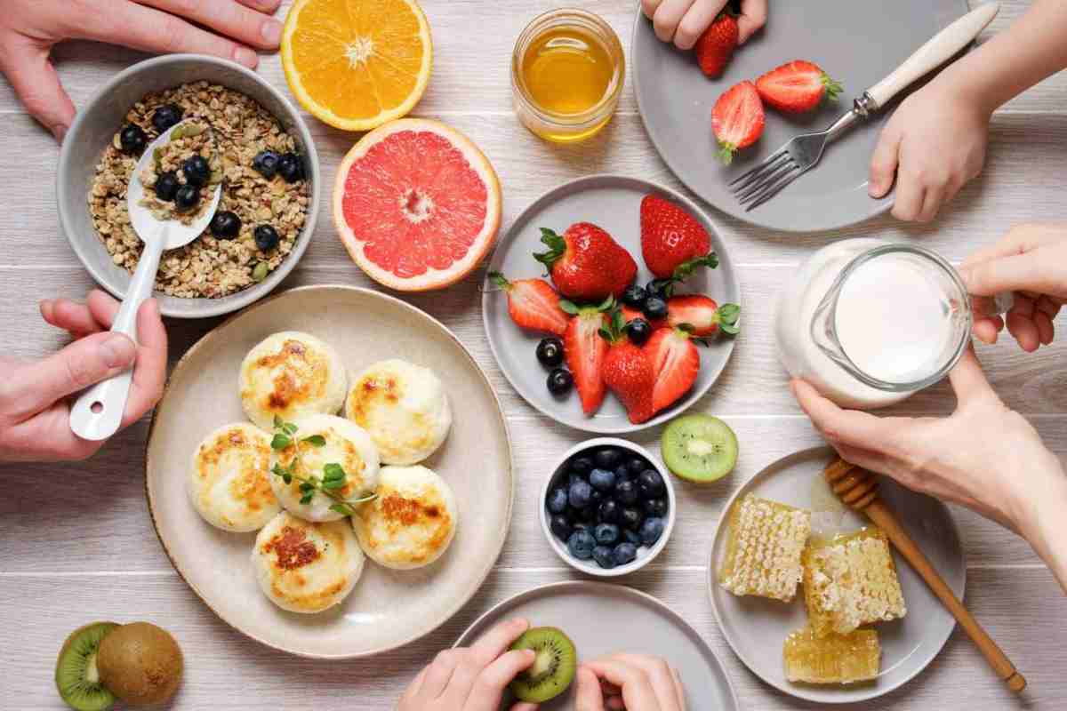
[[[810,532],[809,512],[746,496],[730,511],[719,583],[734,595],[789,602],[800,582],[800,554]]]

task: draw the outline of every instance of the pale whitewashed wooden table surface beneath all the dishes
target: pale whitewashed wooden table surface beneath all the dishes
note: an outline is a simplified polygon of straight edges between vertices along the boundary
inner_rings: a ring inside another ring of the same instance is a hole
[[[441,118],[481,146],[504,187],[504,227],[541,193],[587,174],[620,173],[682,189],[648,140],[631,86],[611,124],[584,145],[547,145],[516,122],[507,70],[512,43],[526,21],[558,4],[424,0],[433,29],[434,67],[414,113]],[[580,4],[604,16],[628,47],[635,12],[631,0]],[[1026,2],[1002,0],[1001,5],[989,32],[1004,29]],[[142,59],[137,52],[87,43],[63,45],[55,56],[77,106],[116,70]],[[265,56],[259,71],[285,87],[276,55]],[[0,342],[11,355],[36,358],[66,342],[63,334],[41,321],[38,300],[80,298],[93,282],[67,245],[57,216],[57,145],[4,82],[0,118],[0,206],[7,224],[7,248],[0,256]],[[355,136],[309,116],[308,123],[323,173],[332,181]],[[816,708],[770,689],[740,664],[723,641],[704,592],[712,532],[729,495],[771,462],[821,442],[790,397],[775,354],[770,313],[779,285],[807,255],[838,237],[911,240],[958,261],[1014,224],[1067,220],[1065,176],[1067,76],[1060,76],[997,113],[983,177],[967,185],[933,225],[905,225],[886,216],[833,236],[790,235],[712,210],[740,271],[745,330],[718,385],[695,409],[730,423],[740,440],[740,459],[724,481],[681,490],[679,526],[670,545],[654,565],[623,582],[660,598],[696,626],[724,661],[742,708]],[[479,280],[472,277],[443,292],[405,297],[443,321],[474,353],[500,395],[514,443],[519,486],[507,545],[484,587],[455,618],[417,643],[362,661],[309,661],[249,641],[201,603],[160,548],[144,500],[145,420],[87,462],[0,466],[0,628],[12,635],[0,645],[0,707],[63,708],[52,684],[63,639],[84,623],[113,618],[150,619],[180,641],[187,677],[174,708],[389,709],[417,669],[490,605],[541,583],[577,578],[550,550],[535,512],[548,462],[583,435],[535,411],[501,376],[482,333]],[[285,286],[322,282],[372,286],[334,236],[328,206],[307,254]],[[172,362],[218,323],[169,321]],[[1067,326],[1063,318],[1060,324]],[[1036,355],[1023,354],[1009,339],[978,348],[1001,395],[1031,418],[1061,455],[1067,454],[1065,340]],[[953,404],[942,384],[897,409],[942,414]],[[657,434],[635,440],[654,445]],[[1022,700],[1012,698],[957,630],[917,679],[862,708],[1064,708],[1067,597],[1024,542],[968,511],[954,507],[953,513],[968,558],[967,602],[1025,674],[1030,689]],[[699,704],[697,708],[703,711]]]

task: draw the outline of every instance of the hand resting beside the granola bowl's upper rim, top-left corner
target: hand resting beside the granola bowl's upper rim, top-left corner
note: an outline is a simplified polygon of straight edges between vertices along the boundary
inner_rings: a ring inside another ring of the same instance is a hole
[[[253,47],[275,49],[281,0],[5,0],[0,71],[26,110],[62,141],[75,108],[48,59],[63,39],[95,39],[148,52],[195,52],[254,68]]]

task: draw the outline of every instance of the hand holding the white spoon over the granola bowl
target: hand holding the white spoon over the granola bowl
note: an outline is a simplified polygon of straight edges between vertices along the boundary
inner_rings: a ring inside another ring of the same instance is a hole
[[[102,291],[87,304],[67,300],[41,303],[41,314],[77,340],[38,362],[0,358],[0,460],[83,459],[102,441],[70,431],[67,397],[133,367],[133,381],[122,426],[136,422],[163,392],[166,381],[166,330],[155,300],[141,305],[137,328],[140,345],[107,329],[118,303]]]

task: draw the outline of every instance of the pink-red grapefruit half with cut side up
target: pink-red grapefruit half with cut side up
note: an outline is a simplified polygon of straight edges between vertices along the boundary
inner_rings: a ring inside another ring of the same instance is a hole
[[[500,227],[500,183],[478,147],[436,120],[401,118],[352,146],[334,223],[352,260],[399,291],[441,289],[481,262]]]

